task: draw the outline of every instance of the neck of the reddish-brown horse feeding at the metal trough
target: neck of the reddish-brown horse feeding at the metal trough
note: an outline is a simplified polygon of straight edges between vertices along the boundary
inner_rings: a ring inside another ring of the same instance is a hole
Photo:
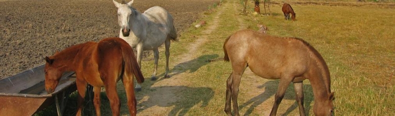
[[[57,63],[61,71],[74,71],[75,58],[85,44],[71,46],[54,55],[55,63]]]

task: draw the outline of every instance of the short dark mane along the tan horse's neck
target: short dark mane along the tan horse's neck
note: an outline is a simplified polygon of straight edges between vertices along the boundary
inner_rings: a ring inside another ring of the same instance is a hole
[[[322,74],[322,76],[323,77],[327,77],[326,79],[323,79],[324,81],[325,81],[325,84],[326,84],[326,86],[328,87],[328,90],[329,90],[329,93],[331,92],[331,90],[330,90],[330,73],[329,73],[329,68],[328,68],[328,65],[326,64],[326,62],[325,62],[325,60],[324,60],[324,58],[321,56],[321,54],[319,54],[318,53],[318,51],[313,47],[313,46],[311,46],[310,45],[310,43],[308,43],[307,41],[305,41],[305,40],[303,40],[303,39],[301,39],[301,38],[297,38],[297,37],[294,37],[293,39],[296,39],[296,40],[299,40],[299,41],[301,41],[308,49],[309,49],[309,51],[311,52],[310,54],[311,54],[311,56],[312,55],[314,55],[314,56],[316,56],[316,60],[319,60],[319,61],[316,61],[316,63],[318,64],[318,65],[321,65],[322,67],[319,67],[321,70],[322,70],[322,72],[324,73],[324,74]]]

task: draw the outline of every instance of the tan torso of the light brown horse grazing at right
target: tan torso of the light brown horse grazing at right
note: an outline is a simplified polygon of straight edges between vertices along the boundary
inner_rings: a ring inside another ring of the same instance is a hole
[[[303,42],[294,38],[240,30],[225,47],[232,64],[247,63],[252,72],[266,79],[279,79],[285,73],[301,75],[307,70],[309,53]]]

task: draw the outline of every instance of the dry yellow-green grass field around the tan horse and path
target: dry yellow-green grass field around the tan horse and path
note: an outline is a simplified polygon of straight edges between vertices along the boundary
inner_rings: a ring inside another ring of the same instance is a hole
[[[331,0],[332,1],[332,0]],[[354,1],[354,0],[353,0]],[[342,1],[345,2],[345,1]],[[231,4],[237,4],[235,7]],[[211,11],[203,13],[199,21],[207,21],[207,26],[212,25],[214,15],[221,9],[225,9],[219,16],[219,25],[208,34],[208,41],[198,48],[196,58],[190,66],[189,73],[185,74],[183,83],[191,88],[179,91],[181,99],[173,103],[176,108],[187,108],[177,112],[163,114],[163,116],[187,115],[187,116],[225,116],[225,81],[231,73],[229,62],[213,61],[223,58],[223,42],[233,32],[239,30],[241,19],[246,28],[257,30],[257,24],[266,25],[268,34],[279,37],[299,37],[308,41],[323,56],[331,73],[332,91],[335,91],[335,115],[337,116],[394,116],[395,115],[395,8],[382,8],[377,6],[326,6],[326,5],[300,5],[291,4],[296,12],[297,21],[284,20],[281,12],[282,4],[271,6],[272,15],[240,15],[241,6],[238,0],[224,0],[223,5]],[[249,3],[252,11],[252,2]],[[263,8],[261,8],[263,13]],[[188,51],[188,44],[195,41],[195,36],[201,36],[206,27],[191,27],[181,33],[180,42],[171,45],[171,58],[177,58]],[[164,67],[163,50],[160,52],[158,67]],[[144,75],[151,75],[153,61],[142,62]],[[176,68],[170,66],[170,70]],[[158,68],[158,72],[164,72],[164,68]],[[256,77],[255,77],[256,78]],[[148,80],[148,78],[146,78]],[[256,78],[260,82],[261,78]],[[150,87],[155,82],[146,81],[142,87]],[[242,84],[248,86],[251,82],[242,80]],[[304,81],[305,107],[309,115],[313,115],[313,93],[309,81]],[[269,81],[269,85],[278,82]],[[121,84],[119,84],[121,86]],[[240,86],[242,87],[242,86]],[[119,87],[120,97],[124,96],[123,87]],[[250,94],[240,88],[238,103],[240,114],[261,116],[270,112],[274,100],[266,98],[265,102],[255,102],[251,106],[245,105],[251,102],[252,96],[259,99],[259,94]],[[273,88],[274,92],[276,87]],[[147,88],[146,90],[151,90]],[[145,91],[138,92],[144,95]],[[272,92],[273,93],[273,92]],[[286,95],[293,98],[293,88],[289,87]],[[106,99],[106,97],[102,97]],[[122,100],[122,113],[127,114],[125,98]],[[283,100],[284,101],[284,100]],[[292,109],[293,99],[284,101],[280,107],[285,110],[283,115],[299,115]],[[108,102],[102,100],[102,102]],[[267,108],[259,108],[260,104]],[[139,105],[139,104],[138,104]],[[293,106],[295,107],[295,106]],[[288,108],[288,109],[287,109]],[[73,108],[74,109],[74,108]],[[173,109],[173,110],[174,110]],[[172,111],[173,111],[172,110]],[[89,111],[88,111],[89,112]],[[93,108],[91,108],[91,112]],[[139,111],[138,111],[139,112]],[[285,112],[285,113],[284,113]],[[102,113],[107,116],[111,113],[108,103],[102,106]],[[103,115],[102,114],[102,115]],[[277,114],[279,115],[279,114]]]

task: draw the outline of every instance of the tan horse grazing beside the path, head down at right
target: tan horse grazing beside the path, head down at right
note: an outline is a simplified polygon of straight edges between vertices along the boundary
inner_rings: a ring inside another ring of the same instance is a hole
[[[305,116],[303,107],[303,80],[313,87],[314,114],[330,116],[333,112],[334,92],[330,90],[329,69],[321,55],[309,43],[298,38],[280,38],[253,30],[240,30],[229,36],[224,44],[224,59],[231,61],[232,74],[227,80],[225,112],[231,114],[231,99],[235,116],[238,87],[241,75],[249,67],[265,79],[279,79],[278,90],[271,116],[277,113],[288,85],[295,86],[299,113]]]

